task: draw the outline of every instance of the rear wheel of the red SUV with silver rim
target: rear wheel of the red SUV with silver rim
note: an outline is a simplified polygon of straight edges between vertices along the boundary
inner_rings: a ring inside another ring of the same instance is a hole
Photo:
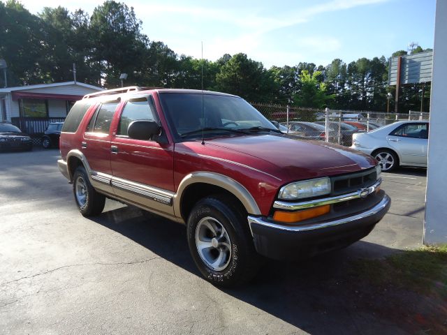
[[[83,216],[96,216],[103,211],[105,195],[96,192],[94,187],[91,186],[83,166],[78,167],[73,174],[73,194],[78,209]]]

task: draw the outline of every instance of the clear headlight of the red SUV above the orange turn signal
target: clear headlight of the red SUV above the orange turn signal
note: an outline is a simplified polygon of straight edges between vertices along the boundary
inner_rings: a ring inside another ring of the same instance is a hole
[[[329,194],[330,190],[330,179],[325,177],[288,184],[279,190],[278,197],[283,200],[312,198]]]

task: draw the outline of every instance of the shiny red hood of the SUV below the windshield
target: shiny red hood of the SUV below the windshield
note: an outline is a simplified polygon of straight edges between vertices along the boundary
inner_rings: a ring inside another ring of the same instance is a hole
[[[283,181],[358,172],[376,165],[374,158],[360,151],[287,135],[218,137],[206,143],[224,156],[232,151],[233,161],[251,167],[262,160],[263,167],[269,167],[265,172]]]

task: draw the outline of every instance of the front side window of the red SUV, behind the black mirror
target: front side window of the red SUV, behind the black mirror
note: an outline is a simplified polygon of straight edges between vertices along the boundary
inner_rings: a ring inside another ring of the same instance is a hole
[[[135,120],[156,120],[153,105],[149,105],[147,98],[135,98],[127,101],[119,119],[117,135],[127,135],[129,124]]]

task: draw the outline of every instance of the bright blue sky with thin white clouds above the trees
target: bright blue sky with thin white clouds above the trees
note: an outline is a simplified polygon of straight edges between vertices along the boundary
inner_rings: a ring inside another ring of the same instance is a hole
[[[439,0],[441,1],[441,0]],[[82,8],[91,14],[103,1],[22,0],[31,13],[44,6]],[[149,40],[177,54],[215,61],[244,52],[271,66],[332,59],[390,57],[417,42],[433,47],[435,0],[124,0],[142,20]]]

